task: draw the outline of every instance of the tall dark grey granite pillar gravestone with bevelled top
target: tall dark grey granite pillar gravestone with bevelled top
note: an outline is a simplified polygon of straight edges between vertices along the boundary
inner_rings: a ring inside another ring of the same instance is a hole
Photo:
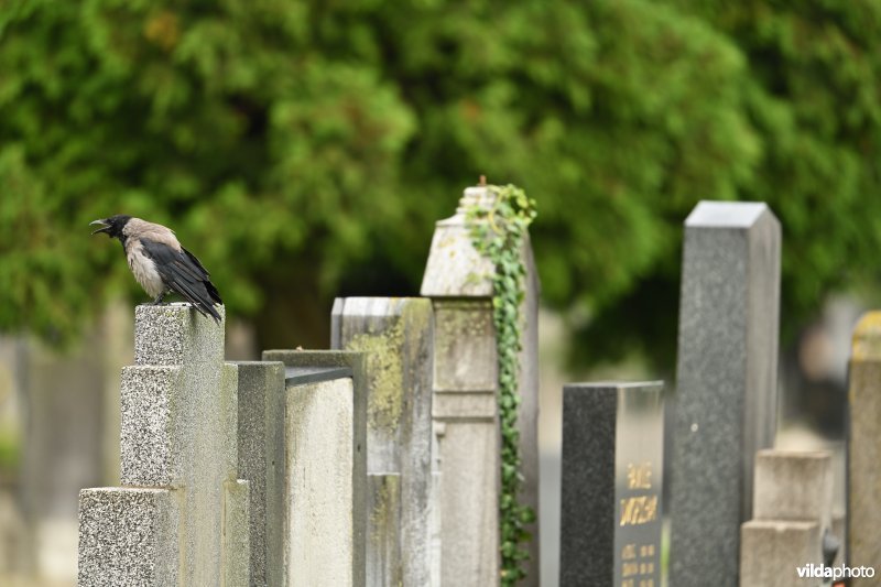
[[[685,221],[671,468],[671,585],[738,583],[753,457],[774,438],[780,224],[701,202]]]

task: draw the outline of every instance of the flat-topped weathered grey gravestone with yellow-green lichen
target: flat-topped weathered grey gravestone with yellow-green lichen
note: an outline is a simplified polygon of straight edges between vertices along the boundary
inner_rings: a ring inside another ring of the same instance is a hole
[[[365,354],[367,583],[431,584],[432,304],[339,297],[331,346]]]

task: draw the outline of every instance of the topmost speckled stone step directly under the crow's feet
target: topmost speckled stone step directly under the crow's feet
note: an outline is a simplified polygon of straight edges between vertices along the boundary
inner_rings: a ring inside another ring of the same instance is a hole
[[[188,303],[134,311],[135,365],[189,365],[224,360],[226,309],[217,306],[220,324],[202,316]]]

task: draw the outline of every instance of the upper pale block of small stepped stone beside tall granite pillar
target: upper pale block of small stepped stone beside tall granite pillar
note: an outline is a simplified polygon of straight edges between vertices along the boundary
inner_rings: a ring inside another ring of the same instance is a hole
[[[827,450],[759,450],[753,518],[816,521],[831,528],[833,468]]]

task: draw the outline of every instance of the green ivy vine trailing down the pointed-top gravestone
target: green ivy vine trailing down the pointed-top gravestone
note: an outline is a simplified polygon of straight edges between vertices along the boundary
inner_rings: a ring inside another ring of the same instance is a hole
[[[499,365],[499,420],[501,425],[501,494],[499,524],[501,534],[502,586],[511,586],[526,576],[522,563],[529,558],[522,543],[531,540],[526,524],[535,512],[519,501],[523,481],[520,470],[520,432],[516,410],[520,405],[518,380],[521,350],[520,306],[525,297],[526,268],[522,249],[527,228],[535,218],[535,202],[514,186],[489,186],[496,197],[489,208],[475,205],[466,211],[471,242],[492,261],[492,311]]]

